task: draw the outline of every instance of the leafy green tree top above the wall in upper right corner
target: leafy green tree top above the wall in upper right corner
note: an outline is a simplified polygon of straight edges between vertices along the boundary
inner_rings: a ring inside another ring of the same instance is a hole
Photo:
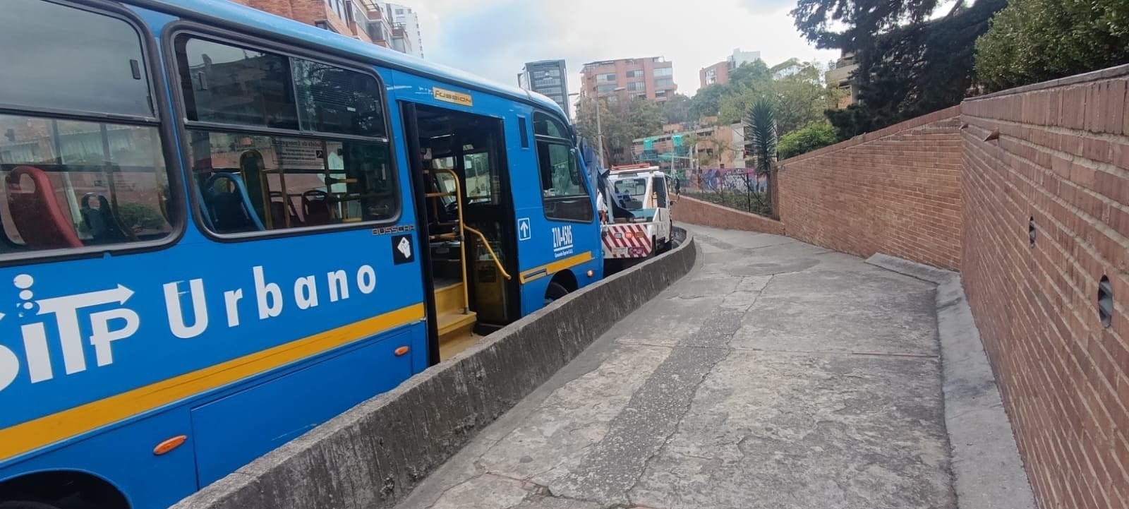
[[[1129,63],[1129,1],[1012,0],[975,45],[988,90]]]

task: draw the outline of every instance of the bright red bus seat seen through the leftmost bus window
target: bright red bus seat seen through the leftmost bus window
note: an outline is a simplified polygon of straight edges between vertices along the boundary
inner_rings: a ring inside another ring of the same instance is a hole
[[[25,176],[32,188],[24,185]],[[11,221],[24,244],[34,249],[82,247],[75,226],[55,200],[54,186],[46,172],[34,166],[17,166],[5,181]]]

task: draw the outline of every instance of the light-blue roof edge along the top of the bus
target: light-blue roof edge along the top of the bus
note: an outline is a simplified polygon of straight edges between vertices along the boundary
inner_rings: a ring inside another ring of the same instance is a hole
[[[125,3],[175,14],[184,18],[208,20],[215,26],[236,25],[244,33],[263,33],[289,38],[299,45],[317,45],[331,53],[345,54],[377,65],[397,68],[437,81],[476,89],[488,94],[528,103],[568,119],[560,105],[541,94],[498,84],[470,72],[406,55],[387,47],[366,43],[341,34],[295,21],[228,0],[122,0]]]

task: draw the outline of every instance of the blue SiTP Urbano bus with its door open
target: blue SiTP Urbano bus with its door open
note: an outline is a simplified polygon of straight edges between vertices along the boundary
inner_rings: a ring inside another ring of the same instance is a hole
[[[3,509],[168,507],[603,277],[545,97],[224,0],[3,7]]]

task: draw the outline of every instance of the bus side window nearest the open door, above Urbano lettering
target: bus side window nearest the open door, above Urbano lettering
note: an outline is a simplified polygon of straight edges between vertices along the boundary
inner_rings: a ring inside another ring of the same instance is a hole
[[[194,196],[210,230],[396,217],[399,193],[375,77],[191,36],[177,38],[176,55]]]

